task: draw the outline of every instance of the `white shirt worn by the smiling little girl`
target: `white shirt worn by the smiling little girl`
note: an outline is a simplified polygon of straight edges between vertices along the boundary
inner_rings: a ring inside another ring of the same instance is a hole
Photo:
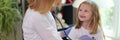
[[[84,27],[81,27],[80,29],[75,29],[75,27],[72,27],[70,33],[69,33],[69,37],[72,40],[77,40],[78,38],[80,38],[83,35],[88,35],[89,37],[94,37],[94,39],[96,40],[104,40],[104,34],[101,28],[98,29],[98,33],[96,34],[90,34],[90,31],[85,29]]]

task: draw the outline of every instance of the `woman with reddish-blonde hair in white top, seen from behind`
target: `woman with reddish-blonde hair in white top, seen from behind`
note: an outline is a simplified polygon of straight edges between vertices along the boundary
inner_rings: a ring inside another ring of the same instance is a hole
[[[62,40],[49,11],[55,0],[28,0],[23,20],[24,40]]]

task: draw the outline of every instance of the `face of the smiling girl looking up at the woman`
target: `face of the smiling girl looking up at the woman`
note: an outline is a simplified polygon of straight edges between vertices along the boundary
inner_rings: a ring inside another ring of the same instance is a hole
[[[92,7],[89,4],[82,4],[78,10],[80,21],[90,21],[92,16]]]

